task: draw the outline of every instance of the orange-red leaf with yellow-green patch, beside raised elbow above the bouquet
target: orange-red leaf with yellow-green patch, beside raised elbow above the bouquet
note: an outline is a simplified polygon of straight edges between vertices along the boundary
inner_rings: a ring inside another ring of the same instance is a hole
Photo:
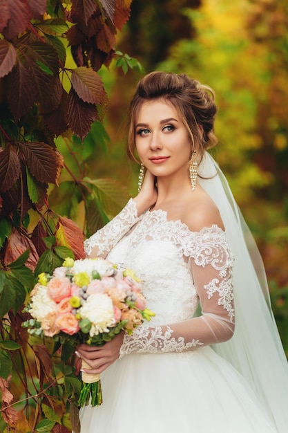
[[[84,236],[79,226],[66,216],[59,216],[56,241],[58,246],[66,246],[73,251],[75,259],[84,259]]]

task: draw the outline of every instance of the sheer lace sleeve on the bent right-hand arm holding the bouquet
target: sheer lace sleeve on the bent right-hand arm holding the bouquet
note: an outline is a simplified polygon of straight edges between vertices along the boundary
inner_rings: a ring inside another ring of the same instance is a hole
[[[229,340],[234,331],[233,257],[224,232],[208,229],[189,251],[189,265],[202,314],[165,326],[142,325],[124,335],[120,358],[127,353],[187,351]]]

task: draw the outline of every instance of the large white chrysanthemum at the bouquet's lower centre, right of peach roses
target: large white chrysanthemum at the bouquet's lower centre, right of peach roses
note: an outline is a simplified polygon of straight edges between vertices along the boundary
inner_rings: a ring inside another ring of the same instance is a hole
[[[108,332],[108,327],[115,324],[113,302],[104,293],[90,295],[84,306],[79,308],[78,313],[82,319],[90,320],[92,324],[91,337],[102,332]]]

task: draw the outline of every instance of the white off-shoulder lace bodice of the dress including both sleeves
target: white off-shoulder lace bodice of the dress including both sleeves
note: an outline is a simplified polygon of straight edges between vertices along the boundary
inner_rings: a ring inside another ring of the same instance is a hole
[[[131,199],[118,216],[85,241],[87,255],[133,268],[142,279],[150,324],[126,335],[131,351],[184,351],[227,340],[233,334],[233,257],[217,225],[191,232],[166,212],[137,216]],[[195,317],[198,304],[202,315]]]

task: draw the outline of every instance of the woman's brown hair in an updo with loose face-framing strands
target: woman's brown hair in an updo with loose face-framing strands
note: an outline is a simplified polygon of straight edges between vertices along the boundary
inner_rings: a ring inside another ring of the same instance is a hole
[[[135,125],[145,101],[164,100],[177,110],[191,136],[194,150],[202,158],[204,151],[218,142],[214,134],[217,112],[215,94],[209,86],[200,84],[186,74],[151,72],[140,80],[131,100],[128,128],[127,155],[135,156]]]

